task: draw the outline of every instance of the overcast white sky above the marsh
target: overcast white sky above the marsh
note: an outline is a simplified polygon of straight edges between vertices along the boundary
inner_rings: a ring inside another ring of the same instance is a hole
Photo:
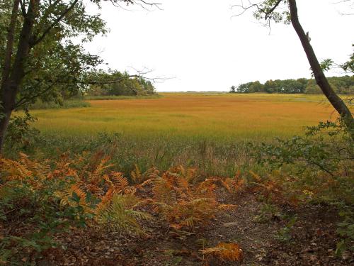
[[[319,60],[345,62],[354,43],[353,6],[339,0],[298,0],[299,18]],[[232,85],[310,77],[309,63],[292,26],[264,28],[252,13],[232,18],[238,0],[159,0],[163,10],[130,11],[105,4],[110,33],[86,48],[113,69],[154,70],[158,92],[228,91]],[[245,1],[246,2],[246,1]],[[351,9],[352,8],[352,9]],[[327,75],[341,73],[331,72]]]

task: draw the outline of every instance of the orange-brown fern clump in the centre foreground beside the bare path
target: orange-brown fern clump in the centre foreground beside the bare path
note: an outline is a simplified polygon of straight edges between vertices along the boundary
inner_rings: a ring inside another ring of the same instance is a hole
[[[192,186],[190,182],[194,178],[195,172],[185,171],[180,166],[152,179],[154,209],[177,230],[206,225],[217,211],[213,185],[206,180]]]

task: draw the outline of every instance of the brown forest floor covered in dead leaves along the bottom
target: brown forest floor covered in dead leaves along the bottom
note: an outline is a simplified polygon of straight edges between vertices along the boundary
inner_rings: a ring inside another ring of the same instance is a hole
[[[335,255],[340,219],[329,206],[280,210],[252,192],[220,191],[218,201],[237,207],[219,211],[208,226],[196,228],[198,233],[173,231],[157,218],[144,225],[147,238],[76,229],[58,236],[67,250],[47,250],[39,265],[353,265],[353,254]],[[293,224],[289,217],[296,217]],[[243,259],[203,257],[200,250],[217,243],[237,243]]]

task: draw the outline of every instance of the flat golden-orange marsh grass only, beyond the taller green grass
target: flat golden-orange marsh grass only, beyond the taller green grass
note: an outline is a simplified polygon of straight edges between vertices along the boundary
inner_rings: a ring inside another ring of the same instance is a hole
[[[322,96],[303,94],[163,94],[89,102],[89,108],[35,110],[35,126],[60,135],[263,140],[299,134],[304,126],[336,118]]]

